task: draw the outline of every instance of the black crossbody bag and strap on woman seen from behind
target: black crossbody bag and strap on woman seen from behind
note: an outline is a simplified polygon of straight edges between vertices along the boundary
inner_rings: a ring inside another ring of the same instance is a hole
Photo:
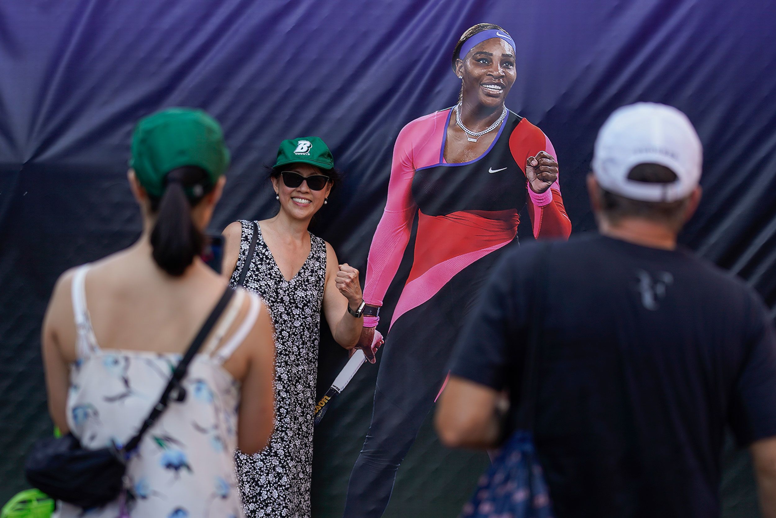
[[[72,433],[64,437],[39,440],[27,456],[24,470],[27,480],[48,496],[83,509],[103,506],[119,496],[123,488],[126,460],[140,444],[144,433],[167,409],[170,399],[183,401],[182,379],[189,363],[202,347],[210,330],[234,295],[227,288],[218,304],[207,317],[182,360],[175,367],[159,402],[151,410],[140,431],[124,447],[87,450]]]

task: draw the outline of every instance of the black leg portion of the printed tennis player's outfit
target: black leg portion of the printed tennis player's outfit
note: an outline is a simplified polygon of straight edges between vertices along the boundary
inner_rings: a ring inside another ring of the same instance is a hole
[[[380,359],[372,424],[348,482],[345,518],[383,516],[399,464],[434,405],[452,347],[501,250],[464,268],[393,323]]]

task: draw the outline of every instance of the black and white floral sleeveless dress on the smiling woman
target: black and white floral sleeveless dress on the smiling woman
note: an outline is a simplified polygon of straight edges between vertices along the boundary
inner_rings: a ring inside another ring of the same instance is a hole
[[[248,255],[253,223],[241,221],[236,285]],[[264,451],[237,451],[237,480],[247,516],[310,516],[313,413],[326,279],[326,243],[310,233],[310,255],[290,281],[280,272],[262,232],[245,288],[265,300],[275,324],[275,431]]]

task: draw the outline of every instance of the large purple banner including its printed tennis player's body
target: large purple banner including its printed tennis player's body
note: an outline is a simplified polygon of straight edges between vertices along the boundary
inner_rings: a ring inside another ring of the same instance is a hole
[[[431,427],[457,326],[501,247],[594,229],[584,177],[613,109],[688,114],[705,192],[681,240],[776,306],[767,3],[0,2],[0,500],[26,486],[23,454],[50,433],[38,333],[54,280],[137,237],[130,130],[187,105],[220,120],[234,157],[213,230],[272,215],[262,165],[283,139],[322,137],[347,175],[312,230],[362,281],[369,271],[386,344],[316,428],[313,515],[455,516],[488,464],[441,447]],[[511,112],[469,160],[445,147],[445,128],[473,81],[452,53],[479,22],[511,34],[515,81]],[[539,150],[559,163],[541,222],[525,187]],[[319,395],[348,361],[323,333]],[[726,516],[757,516],[746,456],[730,450],[726,465]]]

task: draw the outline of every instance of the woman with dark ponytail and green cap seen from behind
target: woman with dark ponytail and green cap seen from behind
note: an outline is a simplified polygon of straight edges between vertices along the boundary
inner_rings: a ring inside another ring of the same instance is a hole
[[[88,449],[137,433],[227,288],[199,258],[229,164],[218,123],[193,109],[148,116],[130,164],[140,239],[65,272],[43,323],[51,417]],[[274,351],[266,307],[238,289],[189,364],[185,397],[127,461],[120,497],[88,516],[244,516],[234,450],[260,451],[272,433]],[[58,516],[83,512],[63,503]]]

